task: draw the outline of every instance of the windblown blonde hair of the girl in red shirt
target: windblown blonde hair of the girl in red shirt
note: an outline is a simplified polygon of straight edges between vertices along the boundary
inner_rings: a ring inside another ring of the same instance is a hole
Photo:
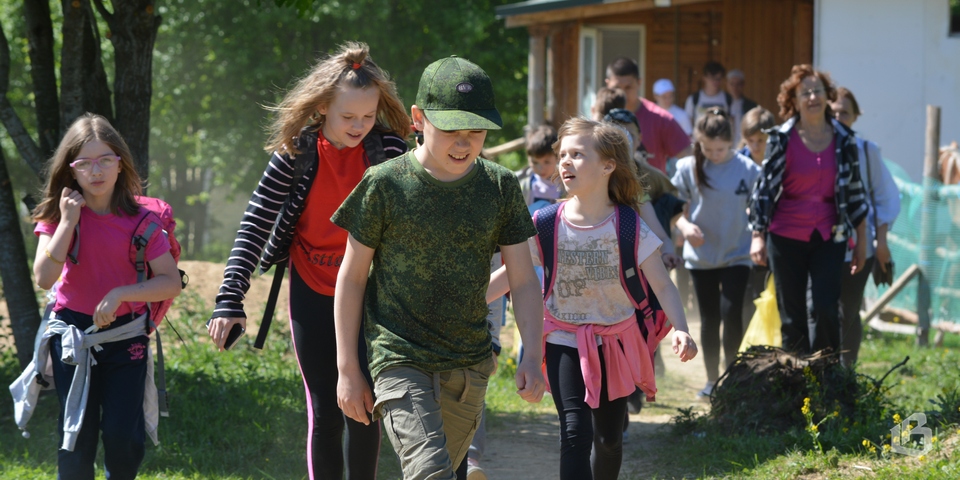
[[[370,58],[370,47],[367,44],[347,42],[340,46],[337,53],[317,63],[306,76],[297,81],[279,104],[267,107],[276,112],[276,116],[268,128],[270,138],[264,150],[280,154],[300,153],[293,139],[300,135],[300,130],[304,127],[323,125],[324,115],[317,109],[332,103],[337,96],[337,89],[341,86],[373,86],[379,90],[379,130],[391,130],[401,138],[410,135],[410,117],[397,96],[396,84]]]

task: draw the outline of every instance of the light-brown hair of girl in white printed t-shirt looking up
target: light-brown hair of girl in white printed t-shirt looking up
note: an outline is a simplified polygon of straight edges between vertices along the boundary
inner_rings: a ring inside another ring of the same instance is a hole
[[[574,117],[560,126],[554,151],[559,154],[560,142],[564,137],[572,135],[590,137],[600,158],[614,162],[615,168],[607,184],[610,200],[627,205],[639,212],[639,199],[643,195],[643,185],[637,177],[636,167],[633,166],[633,146],[630,145],[630,139],[627,138],[623,129],[612,123]]]

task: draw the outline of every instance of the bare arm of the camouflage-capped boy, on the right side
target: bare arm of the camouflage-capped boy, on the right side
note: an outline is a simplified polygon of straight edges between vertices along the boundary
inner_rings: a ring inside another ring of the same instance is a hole
[[[546,390],[540,370],[543,362],[543,301],[540,297],[540,280],[533,271],[527,242],[501,245],[500,251],[503,254],[509,288],[513,292],[513,313],[516,316],[517,329],[520,330],[525,350],[520,365],[517,365],[517,394],[528,402],[536,403],[543,398]]]

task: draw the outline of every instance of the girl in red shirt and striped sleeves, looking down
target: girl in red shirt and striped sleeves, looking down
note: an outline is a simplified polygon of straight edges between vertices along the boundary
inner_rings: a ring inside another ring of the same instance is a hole
[[[307,390],[310,478],[374,479],[379,422],[364,425],[337,406],[333,296],[347,232],[330,216],[368,167],[406,152],[411,121],[393,81],[367,45],[354,42],[317,63],[271,110],[265,149],[273,153],[240,221],[208,332],[219,350],[229,348],[235,325],[246,328],[242,302],[253,269],[289,262],[290,331]],[[358,348],[372,386],[362,336]]]

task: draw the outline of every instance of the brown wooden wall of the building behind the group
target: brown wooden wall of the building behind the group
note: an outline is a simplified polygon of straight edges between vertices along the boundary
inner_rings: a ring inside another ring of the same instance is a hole
[[[716,0],[548,24],[554,103],[546,116],[552,123],[578,111],[580,27],[604,24],[646,26],[642,94],[652,99],[653,82],[669,78],[680,106],[700,88],[704,63],[716,60],[743,70],[746,96],[776,114],[790,67],[813,60],[813,0]]]

